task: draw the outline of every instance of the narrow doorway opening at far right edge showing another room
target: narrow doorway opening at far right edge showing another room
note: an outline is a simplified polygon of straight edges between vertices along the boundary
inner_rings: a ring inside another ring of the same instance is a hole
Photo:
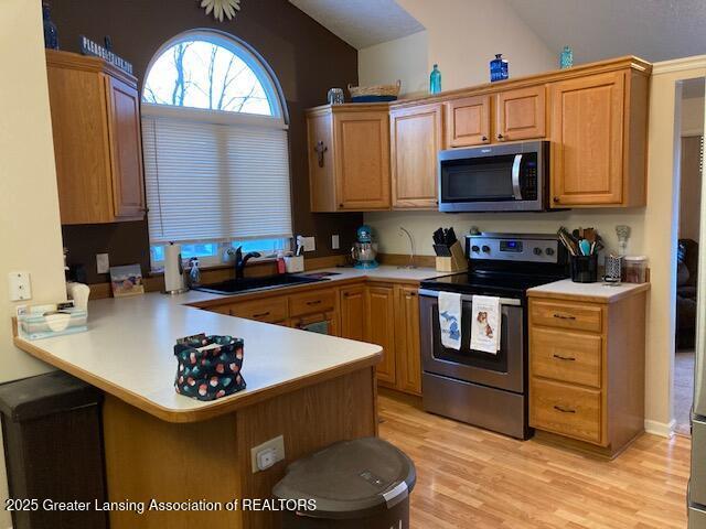
[[[704,78],[681,89],[680,207],[674,358],[674,431],[688,435],[694,396],[696,292],[698,278],[702,166],[704,162]]]

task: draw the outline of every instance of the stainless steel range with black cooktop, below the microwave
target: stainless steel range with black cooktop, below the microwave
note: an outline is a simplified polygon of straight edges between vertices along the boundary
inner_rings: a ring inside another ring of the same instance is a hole
[[[432,413],[527,439],[527,298],[564,279],[566,250],[555,235],[480,234],[466,238],[469,272],[422,281],[419,289],[422,402]],[[461,294],[461,347],[441,344],[439,292]],[[496,354],[471,348],[473,295],[500,298]]]

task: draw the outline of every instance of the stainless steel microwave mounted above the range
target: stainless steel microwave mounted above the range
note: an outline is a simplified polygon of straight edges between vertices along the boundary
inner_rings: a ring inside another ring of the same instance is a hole
[[[548,141],[439,152],[440,212],[542,212],[548,185]]]

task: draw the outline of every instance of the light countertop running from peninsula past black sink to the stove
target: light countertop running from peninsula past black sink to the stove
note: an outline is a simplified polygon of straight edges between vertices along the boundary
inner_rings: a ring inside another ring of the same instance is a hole
[[[440,276],[428,268],[389,266],[374,270],[332,268],[315,271],[340,272],[330,278],[331,283],[357,278],[419,281]],[[309,283],[309,287],[328,282]],[[90,301],[88,332],[39,341],[18,337],[15,344],[35,357],[172,422],[225,413],[263,398],[260,393],[284,392],[306,385],[307,380],[333,378],[379,361],[382,348],[377,345],[186,306],[220,298],[232,296],[191,291],[175,296],[147,293]],[[233,335],[245,341],[243,376],[247,389],[210,402],[174,391],[174,343],[179,337],[202,332]]]

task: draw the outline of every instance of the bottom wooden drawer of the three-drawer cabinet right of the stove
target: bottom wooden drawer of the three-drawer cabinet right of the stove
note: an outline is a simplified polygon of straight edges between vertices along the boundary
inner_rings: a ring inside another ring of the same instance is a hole
[[[530,425],[600,444],[600,391],[532,379]]]

